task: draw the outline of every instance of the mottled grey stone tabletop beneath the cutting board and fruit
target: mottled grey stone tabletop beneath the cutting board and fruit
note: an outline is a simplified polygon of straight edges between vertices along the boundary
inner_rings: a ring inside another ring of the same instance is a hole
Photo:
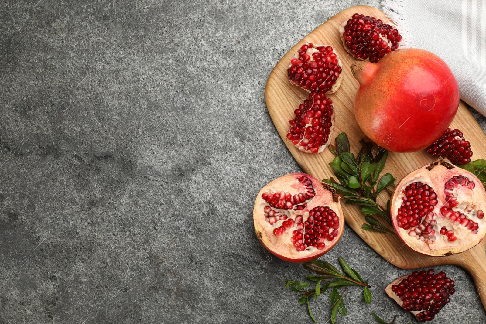
[[[255,237],[262,186],[300,171],[266,78],[342,9],[378,0],[3,1],[0,323],[312,323]],[[349,227],[343,256],[372,288],[338,323],[414,321],[383,289],[406,273]],[[485,323],[469,276],[441,323]],[[329,293],[312,303],[330,323]],[[463,321],[457,320],[457,313]]]

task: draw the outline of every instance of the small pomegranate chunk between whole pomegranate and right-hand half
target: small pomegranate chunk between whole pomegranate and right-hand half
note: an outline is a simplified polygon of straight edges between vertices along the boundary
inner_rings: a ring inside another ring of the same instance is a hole
[[[471,145],[457,128],[448,128],[442,136],[427,148],[435,157],[448,158],[455,165],[471,162]]]

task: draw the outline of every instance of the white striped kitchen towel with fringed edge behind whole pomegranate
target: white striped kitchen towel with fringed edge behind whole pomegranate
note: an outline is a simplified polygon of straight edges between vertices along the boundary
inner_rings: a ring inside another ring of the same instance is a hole
[[[382,6],[403,37],[400,47],[442,58],[461,99],[486,116],[486,0],[383,0]]]

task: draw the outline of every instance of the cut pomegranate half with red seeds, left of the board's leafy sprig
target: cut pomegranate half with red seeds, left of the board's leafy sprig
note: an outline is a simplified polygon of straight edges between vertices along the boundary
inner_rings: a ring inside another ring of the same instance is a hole
[[[291,173],[260,190],[253,208],[260,243],[273,255],[307,262],[341,238],[344,217],[336,191],[305,173]]]

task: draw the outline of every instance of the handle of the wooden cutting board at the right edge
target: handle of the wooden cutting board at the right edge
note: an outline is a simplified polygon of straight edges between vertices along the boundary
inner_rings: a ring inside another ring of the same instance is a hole
[[[468,257],[463,258],[457,265],[466,270],[472,277],[476,285],[476,293],[481,298],[483,306],[486,308],[486,254],[485,244],[481,242],[469,251],[464,252],[469,254]],[[463,253],[460,253],[462,255]],[[477,297],[476,295],[476,297]]]

